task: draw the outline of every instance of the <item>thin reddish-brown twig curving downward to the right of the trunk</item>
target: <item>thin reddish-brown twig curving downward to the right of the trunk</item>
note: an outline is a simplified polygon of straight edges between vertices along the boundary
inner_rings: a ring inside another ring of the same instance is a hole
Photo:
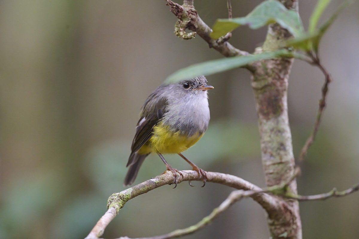
[[[324,82],[324,85],[322,87],[322,98],[319,101],[319,109],[318,109],[316,121],[314,123],[314,129],[313,129],[312,134],[309,136],[306,143],[304,144],[302,150],[300,151],[300,155],[299,155],[299,159],[298,159],[299,163],[303,161],[304,157],[307,155],[308,148],[312,145],[312,143],[315,140],[315,137],[317,135],[319,125],[320,125],[320,122],[321,122],[322,114],[323,114],[324,108],[326,106],[326,97],[327,97],[327,93],[328,93],[328,85],[332,81],[332,78],[331,78],[330,74],[327,72],[327,70],[321,64],[319,56],[318,55],[314,56],[314,54],[311,53],[310,57],[313,60],[313,62],[311,64],[316,65],[323,72],[323,74],[325,76],[325,82]]]

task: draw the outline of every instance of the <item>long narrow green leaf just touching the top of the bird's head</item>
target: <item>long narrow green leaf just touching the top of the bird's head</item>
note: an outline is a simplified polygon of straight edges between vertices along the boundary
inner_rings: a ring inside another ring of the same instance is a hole
[[[222,58],[212,61],[206,61],[199,64],[194,64],[192,66],[188,66],[186,68],[182,68],[174,72],[172,75],[167,77],[165,82],[177,82],[183,79],[188,79],[192,77],[196,77],[199,75],[212,75],[214,73],[219,73],[223,71],[228,71],[233,68],[245,66],[255,61],[260,61],[263,59],[271,59],[279,56],[292,56],[292,53],[286,49],[281,49],[275,52],[263,52],[256,55],[249,56],[237,56],[237,57],[229,57]]]

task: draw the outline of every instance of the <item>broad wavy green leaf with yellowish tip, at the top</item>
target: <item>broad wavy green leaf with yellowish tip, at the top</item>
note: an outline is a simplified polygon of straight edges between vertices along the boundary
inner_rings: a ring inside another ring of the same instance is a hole
[[[245,17],[218,19],[212,28],[211,37],[218,39],[241,25],[258,29],[275,22],[287,29],[294,37],[299,37],[304,33],[302,21],[296,11],[286,9],[279,1],[267,0]]]

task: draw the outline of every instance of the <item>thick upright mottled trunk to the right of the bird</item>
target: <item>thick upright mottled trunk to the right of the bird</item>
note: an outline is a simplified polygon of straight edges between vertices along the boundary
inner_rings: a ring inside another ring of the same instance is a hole
[[[281,0],[287,8],[298,10],[295,0]],[[262,49],[275,51],[283,46],[291,34],[279,24],[269,25]],[[293,177],[295,163],[292,134],[288,120],[288,78],[293,58],[276,58],[256,62],[252,87],[256,100],[259,131],[261,135],[262,165],[267,186],[280,185]],[[288,185],[288,191],[297,193],[297,182]],[[268,215],[271,238],[302,238],[302,225],[298,201],[285,200],[287,211],[281,220]]]

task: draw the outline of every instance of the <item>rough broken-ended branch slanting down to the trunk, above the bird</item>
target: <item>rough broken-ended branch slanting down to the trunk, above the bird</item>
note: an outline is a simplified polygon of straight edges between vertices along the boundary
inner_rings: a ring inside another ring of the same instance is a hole
[[[227,41],[217,41],[212,39],[210,37],[212,29],[200,18],[197,10],[193,6],[193,1],[183,1],[182,6],[171,0],[166,1],[167,5],[171,7],[172,13],[178,18],[175,25],[175,34],[178,37],[191,39],[197,34],[208,43],[209,47],[216,49],[225,57],[249,55],[248,52],[235,48]],[[186,29],[193,32],[186,33]]]

